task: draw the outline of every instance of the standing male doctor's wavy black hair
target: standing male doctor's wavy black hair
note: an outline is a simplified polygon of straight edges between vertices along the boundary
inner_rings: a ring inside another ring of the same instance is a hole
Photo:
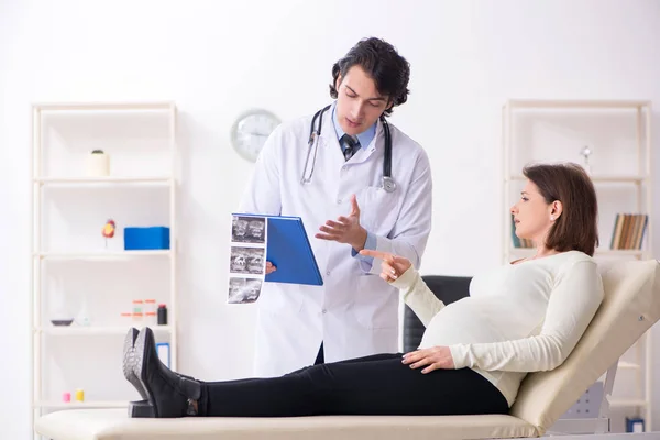
[[[361,40],[343,58],[334,63],[330,85],[332,98],[337,99],[339,96],[336,88],[337,78],[340,75],[344,78],[353,66],[362,67],[372,77],[378,92],[389,97],[393,108],[408,99],[410,64],[392,44],[375,37]],[[392,108],[385,110],[385,114],[392,114]]]

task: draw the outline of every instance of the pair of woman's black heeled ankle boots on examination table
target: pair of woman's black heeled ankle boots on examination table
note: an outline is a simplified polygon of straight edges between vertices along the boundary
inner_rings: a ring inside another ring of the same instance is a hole
[[[134,411],[129,405],[129,415],[157,418],[196,416],[195,403],[201,397],[201,384],[182,377],[163,365],[158,360],[152,329],[146,327],[140,331],[134,348],[135,356],[131,365],[146,393],[148,410],[138,407]]]

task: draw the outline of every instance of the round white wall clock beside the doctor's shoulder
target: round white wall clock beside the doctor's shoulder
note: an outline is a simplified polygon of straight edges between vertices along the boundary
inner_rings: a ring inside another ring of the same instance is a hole
[[[249,110],[233,123],[231,143],[242,157],[255,162],[266,139],[279,123],[279,119],[267,110]]]

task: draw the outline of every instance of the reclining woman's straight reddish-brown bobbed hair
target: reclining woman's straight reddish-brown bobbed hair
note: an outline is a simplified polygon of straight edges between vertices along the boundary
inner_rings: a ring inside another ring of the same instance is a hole
[[[546,202],[559,200],[562,213],[554,221],[546,245],[558,252],[581,251],[593,256],[598,245],[598,201],[591,178],[580,165],[539,164],[526,166],[522,174],[531,180]]]

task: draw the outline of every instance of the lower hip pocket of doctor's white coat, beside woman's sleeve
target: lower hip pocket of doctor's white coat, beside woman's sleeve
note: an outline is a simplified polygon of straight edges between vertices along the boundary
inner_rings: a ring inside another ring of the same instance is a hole
[[[398,296],[377,275],[361,275],[351,312],[367,329],[393,329],[398,324]]]

